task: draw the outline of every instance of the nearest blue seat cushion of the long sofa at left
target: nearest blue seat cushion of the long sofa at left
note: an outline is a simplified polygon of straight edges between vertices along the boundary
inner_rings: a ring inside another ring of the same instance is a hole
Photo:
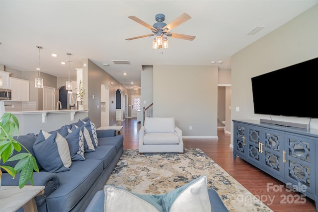
[[[61,186],[47,197],[47,211],[71,211],[90,190],[102,172],[102,160],[86,159],[73,161],[70,171],[56,173],[60,179]]]

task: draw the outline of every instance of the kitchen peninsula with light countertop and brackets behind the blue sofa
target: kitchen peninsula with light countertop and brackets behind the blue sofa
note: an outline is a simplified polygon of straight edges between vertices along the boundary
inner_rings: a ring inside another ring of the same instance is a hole
[[[54,131],[88,117],[88,110],[8,111],[19,120],[19,135]]]

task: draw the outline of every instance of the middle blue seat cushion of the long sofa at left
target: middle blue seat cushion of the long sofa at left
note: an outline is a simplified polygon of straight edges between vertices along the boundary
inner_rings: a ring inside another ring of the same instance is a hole
[[[98,145],[95,148],[94,152],[85,152],[84,156],[86,159],[100,159],[104,163],[104,167],[109,164],[109,162],[115,157],[116,155],[116,147],[109,146],[109,145]]]

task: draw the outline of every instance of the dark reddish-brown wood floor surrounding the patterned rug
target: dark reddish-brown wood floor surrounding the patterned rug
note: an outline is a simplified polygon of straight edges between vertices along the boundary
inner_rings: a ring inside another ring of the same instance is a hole
[[[137,123],[136,118],[130,118],[122,124],[124,148],[138,149],[140,123]],[[200,148],[274,212],[316,212],[313,200],[303,199],[300,193],[286,191],[284,183],[239,157],[233,159],[233,149],[229,147],[231,136],[224,133],[223,129],[218,130],[218,137],[219,139],[183,139],[184,148]],[[267,186],[268,184],[271,186]],[[281,191],[273,189],[279,186],[284,186]]]

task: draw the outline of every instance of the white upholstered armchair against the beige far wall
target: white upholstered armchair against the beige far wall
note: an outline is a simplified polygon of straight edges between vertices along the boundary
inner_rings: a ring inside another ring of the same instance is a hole
[[[150,152],[183,153],[182,131],[174,125],[174,118],[146,117],[139,131],[140,154]]]

